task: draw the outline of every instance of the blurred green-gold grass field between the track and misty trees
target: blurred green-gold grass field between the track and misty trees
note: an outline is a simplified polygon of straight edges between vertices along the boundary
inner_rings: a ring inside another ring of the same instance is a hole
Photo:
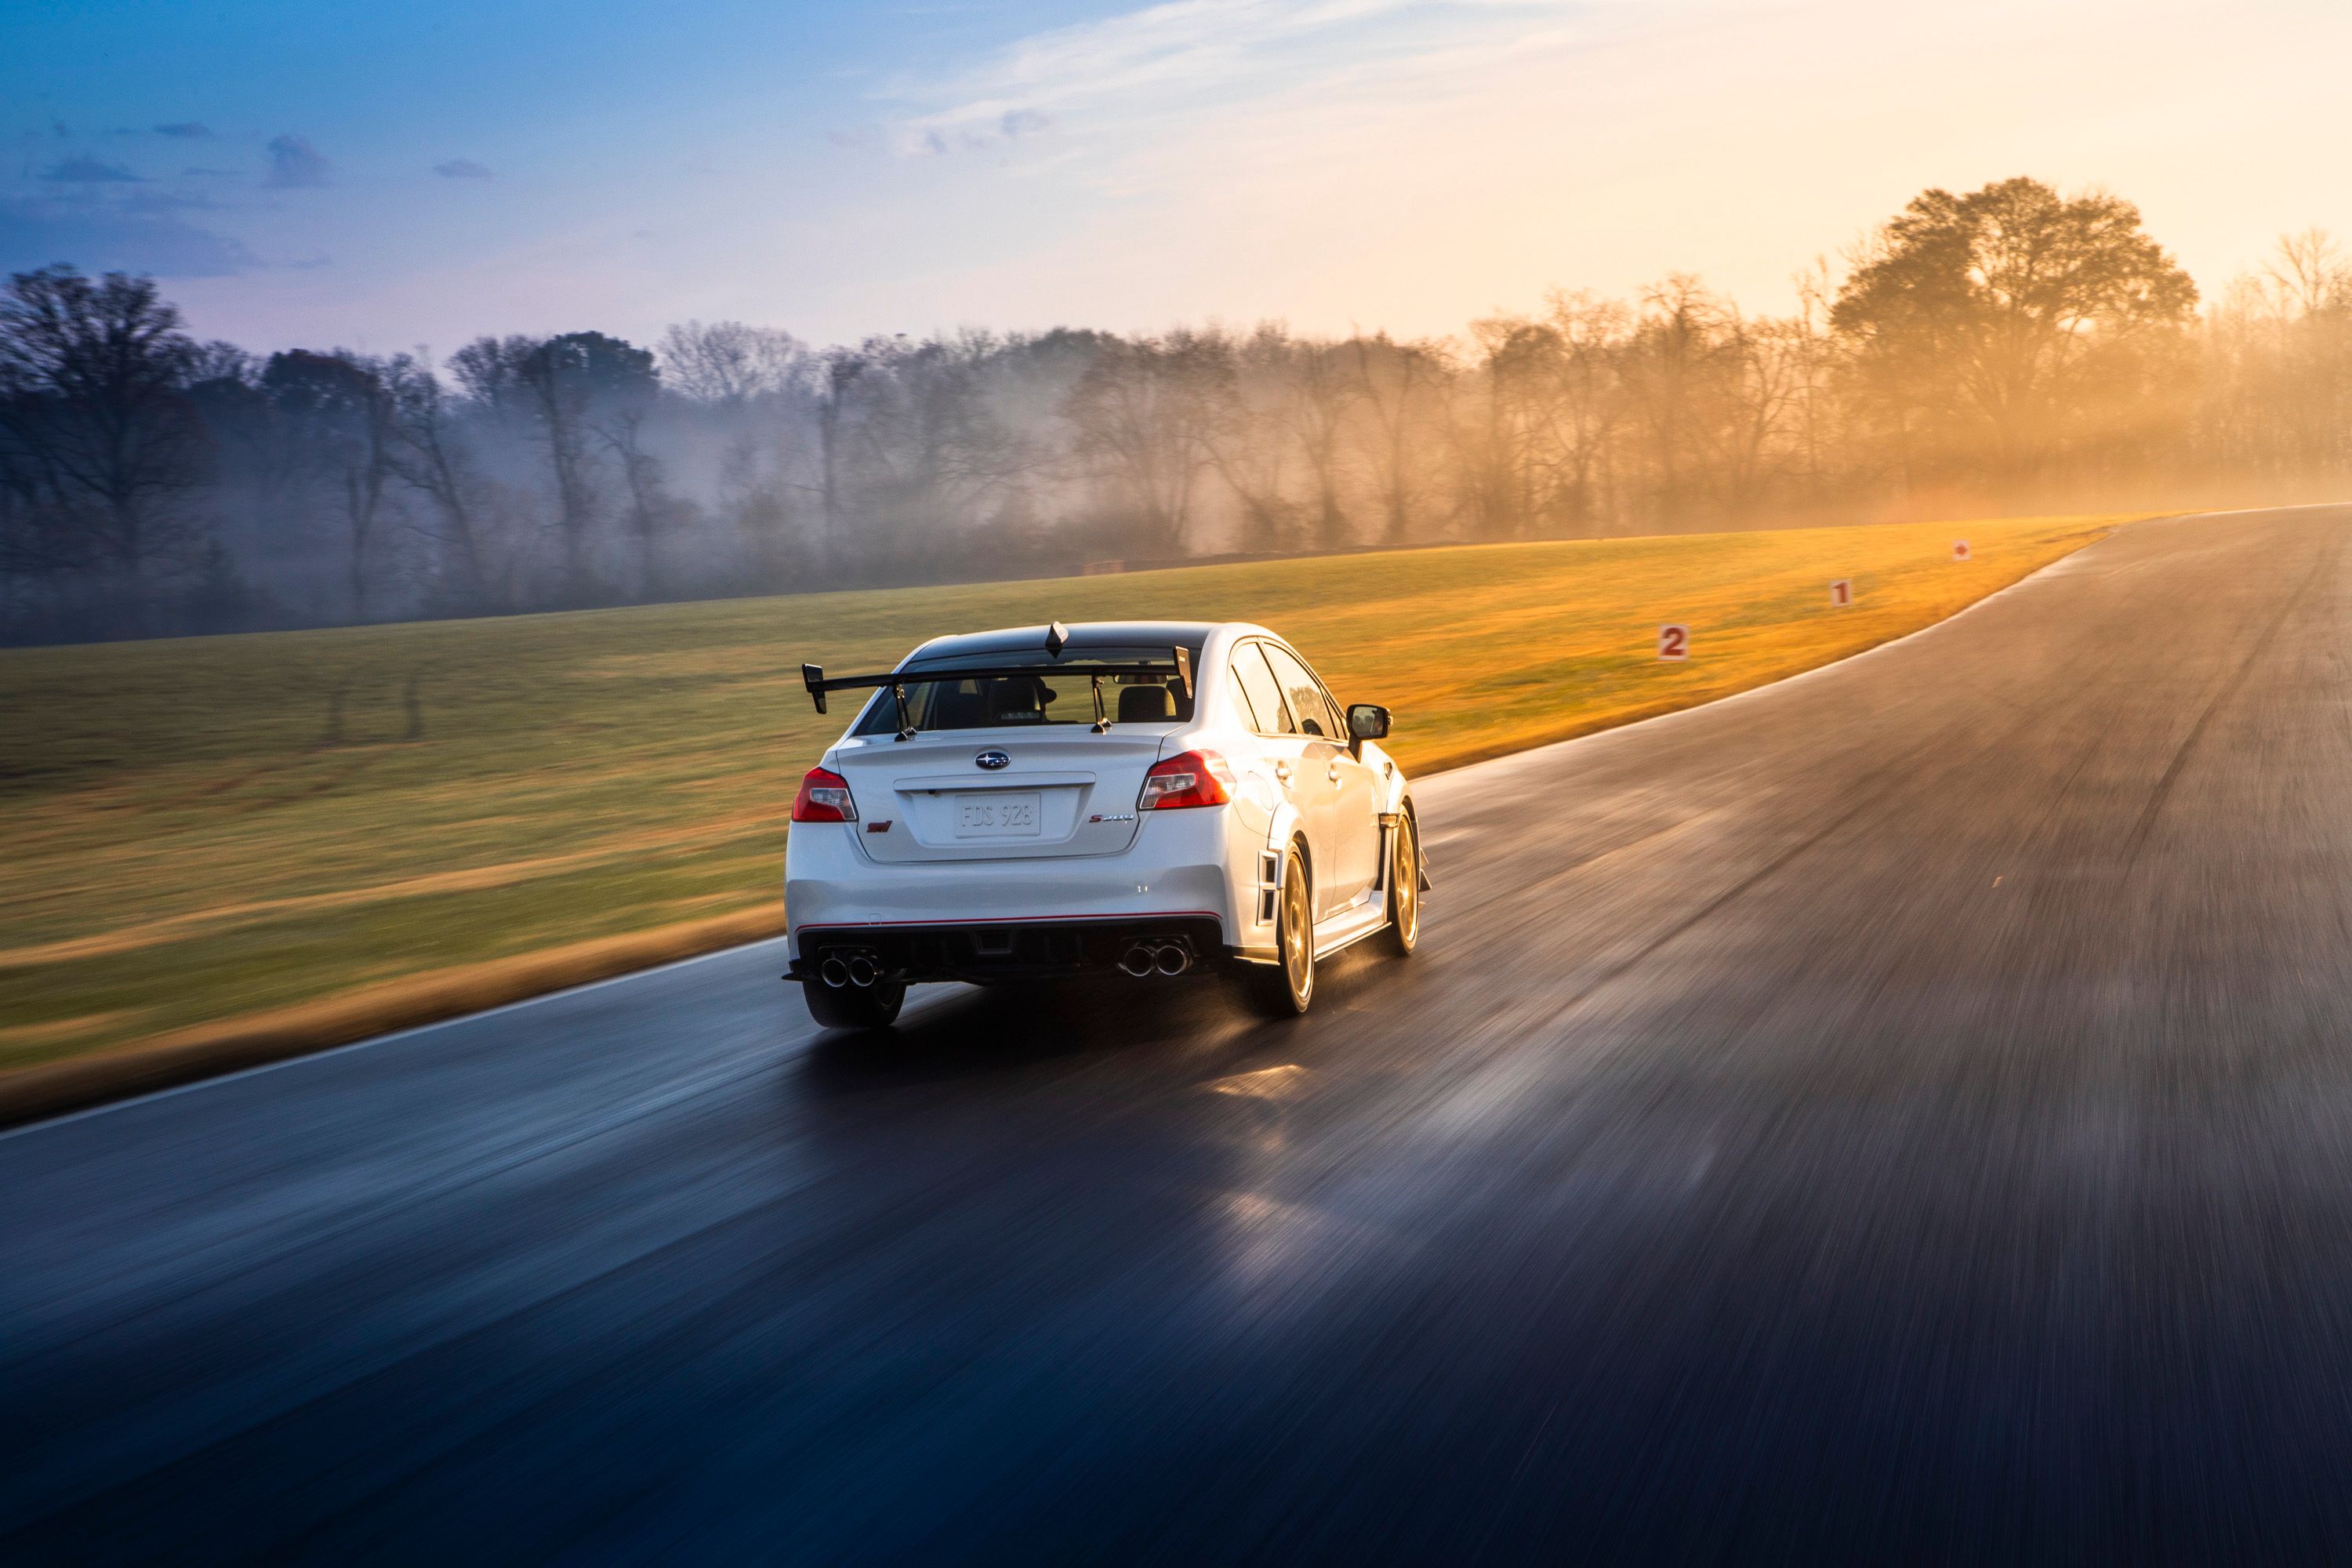
[[[1472,545],[971,588],[0,654],[0,1074],[350,1039],[781,929],[802,658],[946,630],[1247,618],[1411,769],[1790,675],[2114,520]],[[1966,536],[1976,557],[1950,559]],[[1858,602],[1830,609],[1830,578]],[[1686,665],[1656,625],[1693,632]],[[151,1053],[153,1056],[153,1053]]]

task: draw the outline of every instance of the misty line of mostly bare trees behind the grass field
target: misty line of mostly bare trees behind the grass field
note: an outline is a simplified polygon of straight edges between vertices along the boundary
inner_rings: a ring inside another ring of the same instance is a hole
[[[2352,266],[2201,303],[2131,202],[1926,190],[1755,317],[1668,277],[1456,339],[684,322],[426,350],[198,341],[148,277],[0,294],[0,637],[2319,496]]]

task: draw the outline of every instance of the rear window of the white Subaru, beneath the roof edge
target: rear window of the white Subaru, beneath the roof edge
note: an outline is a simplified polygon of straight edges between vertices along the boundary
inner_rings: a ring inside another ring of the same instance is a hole
[[[1200,649],[1185,649],[1200,658]],[[1167,661],[1169,649],[1068,649],[1061,663],[1145,663]],[[1002,670],[1025,665],[1021,654],[969,654],[962,658],[927,658],[908,665],[906,675],[953,672],[955,668]],[[1195,665],[1197,668],[1197,665]],[[906,717],[917,731],[934,729],[1025,729],[1025,726],[1087,726],[1094,724],[1094,682],[1073,675],[1058,663],[1037,656],[1035,675],[981,675],[967,679],[910,679],[906,689]],[[1112,724],[1174,724],[1192,717],[1192,693],[1176,689],[1176,677],[1155,675],[1105,675],[1103,717]],[[898,703],[889,686],[877,691],[866,712],[858,715],[854,736],[898,733]]]

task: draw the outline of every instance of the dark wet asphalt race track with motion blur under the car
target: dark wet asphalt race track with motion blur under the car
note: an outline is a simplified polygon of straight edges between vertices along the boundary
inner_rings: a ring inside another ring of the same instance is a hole
[[[0,1559],[2352,1556],[2347,529],[1432,778],[1291,1025],[762,945],[0,1138]]]

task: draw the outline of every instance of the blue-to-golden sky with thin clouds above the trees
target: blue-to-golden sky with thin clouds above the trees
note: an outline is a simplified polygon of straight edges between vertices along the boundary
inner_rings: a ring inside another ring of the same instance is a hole
[[[1926,186],[2100,186],[2211,294],[2352,240],[2345,0],[5,0],[0,270],[447,353],[746,320],[1451,334],[1750,310]]]

